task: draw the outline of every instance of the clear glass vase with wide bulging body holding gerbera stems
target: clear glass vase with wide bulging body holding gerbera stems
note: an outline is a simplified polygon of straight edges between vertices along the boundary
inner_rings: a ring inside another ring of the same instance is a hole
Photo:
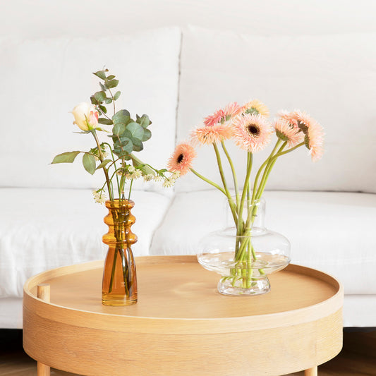
[[[241,209],[236,226],[202,238],[198,262],[222,276],[218,291],[224,295],[267,293],[270,290],[267,275],[289,265],[290,243],[285,236],[265,227],[264,199],[245,200]],[[236,207],[236,213],[239,212]]]

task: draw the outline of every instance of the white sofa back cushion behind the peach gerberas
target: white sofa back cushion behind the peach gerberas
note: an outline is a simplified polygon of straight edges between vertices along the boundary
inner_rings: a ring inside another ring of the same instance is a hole
[[[281,109],[305,110],[325,128],[324,157],[312,163],[305,147],[281,157],[267,189],[376,193],[375,62],[376,33],[261,37],[187,28],[181,51],[178,142],[229,102],[260,99],[269,107],[271,120]],[[255,155],[255,168],[276,140]],[[229,145],[243,176],[245,154]],[[193,166],[219,180],[212,147],[201,147]],[[231,171],[226,171],[231,181]],[[177,191],[207,188],[193,174],[176,185]]]

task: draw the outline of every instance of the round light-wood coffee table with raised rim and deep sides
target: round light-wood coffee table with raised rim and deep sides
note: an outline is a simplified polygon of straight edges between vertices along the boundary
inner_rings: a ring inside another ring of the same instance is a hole
[[[136,264],[138,303],[128,307],[102,305],[102,261],[26,282],[23,346],[38,375],[50,366],[95,376],[317,375],[341,350],[343,289],[325,273],[289,265],[270,276],[269,293],[232,297],[195,256]]]

